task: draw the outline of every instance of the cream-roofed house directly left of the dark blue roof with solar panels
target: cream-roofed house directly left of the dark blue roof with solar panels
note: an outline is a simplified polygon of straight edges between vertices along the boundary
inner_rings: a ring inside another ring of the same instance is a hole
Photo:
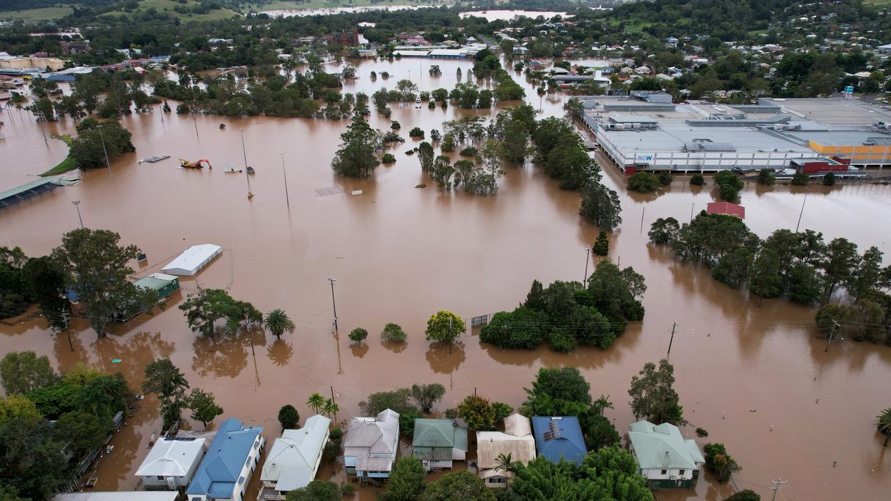
[[[512,414],[504,418],[504,432],[477,431],[477,467],[479,477],[488,488],[505,488],[512,474],[503,469],[498,456],[511,456],[511,461],[527,464],[535,459],[535,438],[532,424],[525,415]]]

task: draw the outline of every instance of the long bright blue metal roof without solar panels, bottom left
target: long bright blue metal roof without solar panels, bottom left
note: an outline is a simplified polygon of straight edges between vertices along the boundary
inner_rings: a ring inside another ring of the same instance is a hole
[[[185,494],[230,499],[241,468],[262,432],[262,426],[245,426],[234,417],[225,420],[214,441],[210,442],[208,454],[201,460]]]

